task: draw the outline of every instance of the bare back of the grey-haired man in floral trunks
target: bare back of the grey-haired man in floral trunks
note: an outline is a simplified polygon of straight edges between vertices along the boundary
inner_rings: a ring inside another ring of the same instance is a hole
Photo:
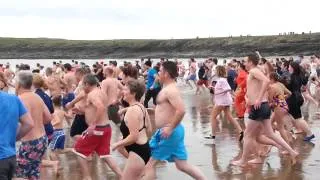
[[[33,92],[23,93],[19,97],[26,106],[28,112],[30,112],[34,121],[34,127],[22,138],[22,141],[30,141],[44,136],[44,124],[51,121],[51,115],[48,108],[43,103],[42,99]]]

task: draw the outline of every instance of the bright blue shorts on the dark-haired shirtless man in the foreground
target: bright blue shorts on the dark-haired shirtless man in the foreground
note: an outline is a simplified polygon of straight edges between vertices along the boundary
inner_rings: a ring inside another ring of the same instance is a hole
[[[184,127],[179,124],[167,139],[161,138],[158,129],[149,142],[151,157],[155,160],[174,162],[175,159],[187,160],[188,154],[184,145]]]

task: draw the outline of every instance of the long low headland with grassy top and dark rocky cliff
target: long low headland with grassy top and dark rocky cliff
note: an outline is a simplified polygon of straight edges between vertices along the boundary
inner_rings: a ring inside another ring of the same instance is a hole
[[[171,40],[0,38],[0,59],[239,57],[320,53],[320,33]]]

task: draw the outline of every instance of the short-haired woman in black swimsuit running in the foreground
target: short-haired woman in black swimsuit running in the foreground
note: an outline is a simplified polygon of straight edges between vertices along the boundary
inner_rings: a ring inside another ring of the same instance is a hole
[[[139,102],[144,92],[145,85],[139,80],[128,81],[123,90],[124,100],[130,106],[120,126],[123,139],[112,145],[112,150],[122,150],[128,158],[122,179],[141,179],[151,155],[147,136],[151,131],[149,115]]]

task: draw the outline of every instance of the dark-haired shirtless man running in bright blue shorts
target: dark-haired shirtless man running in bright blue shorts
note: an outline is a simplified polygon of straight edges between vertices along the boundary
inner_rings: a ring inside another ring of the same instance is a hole
[[[163,89],[158,96],[155,109],[155,124],[158,129],[150,140],[151,158],[145,171],[145,179],[156,178],[155,167],[158,161],[175,162],[176,167],[197,180],[206,179],[203,173],[187,162],[184,144],[184,127],[181,124],[185,107],[176,85],[177,65],[172,61],[163,62],[159,78]]]

